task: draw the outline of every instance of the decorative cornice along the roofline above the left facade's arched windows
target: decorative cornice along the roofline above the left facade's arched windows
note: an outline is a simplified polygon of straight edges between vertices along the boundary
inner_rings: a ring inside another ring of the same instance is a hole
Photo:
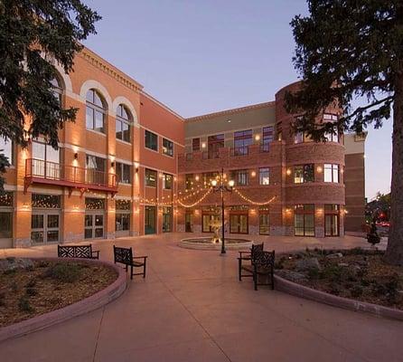
[[[100,71],[107,73],[110,77],[125,85],[128,89],[135,91],[143,89],[143,85],[130,78],[123,71],[119,71],[115,66],[105,61],[98,54],[90,51],[88,48],[84,47],[78,55]]]

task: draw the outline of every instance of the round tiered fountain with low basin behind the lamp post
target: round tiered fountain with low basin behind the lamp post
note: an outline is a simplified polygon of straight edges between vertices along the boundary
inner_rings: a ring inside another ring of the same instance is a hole
[[[179,246],[187,249],[199,249],[199,250],[220,250],[221,238],[220,238],[220,220],[211,220],[210,223],[213,235],[211,237],[196,237],[182,239],[179,242]],[[247,239],[238,238],[225,238],[225,248],[227,250],[239,250],[248,249],[252,246],[252,241]]]

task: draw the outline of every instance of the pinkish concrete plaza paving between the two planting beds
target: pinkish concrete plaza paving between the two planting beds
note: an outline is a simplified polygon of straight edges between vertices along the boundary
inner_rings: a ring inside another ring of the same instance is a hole
[[[0,344],[0,361],[403,361],[403,323],[340,310],[237,280],[236,252],[181,249],[173,233],[99,241],[149,255],[147,278],[108,306]],[[360,238],[265,238],[276,252],[366,246]],[[56,246],[3,250],[55,255]]]

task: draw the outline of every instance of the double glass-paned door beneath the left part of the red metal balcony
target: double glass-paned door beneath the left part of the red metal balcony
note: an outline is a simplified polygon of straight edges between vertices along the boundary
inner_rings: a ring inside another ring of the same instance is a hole
[[[59,241],[60,214],[54,212],[33,213],[31,239],[33,243]]]

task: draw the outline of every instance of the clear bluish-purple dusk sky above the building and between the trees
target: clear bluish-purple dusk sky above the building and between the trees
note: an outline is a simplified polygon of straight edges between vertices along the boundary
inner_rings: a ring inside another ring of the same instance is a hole
[[[274,100],[296,81],[291,19],[305,0],[84,0],[102,16],[85,45],[184,118]],[[366,196],[388,193],[391,120],[368,129]]]

